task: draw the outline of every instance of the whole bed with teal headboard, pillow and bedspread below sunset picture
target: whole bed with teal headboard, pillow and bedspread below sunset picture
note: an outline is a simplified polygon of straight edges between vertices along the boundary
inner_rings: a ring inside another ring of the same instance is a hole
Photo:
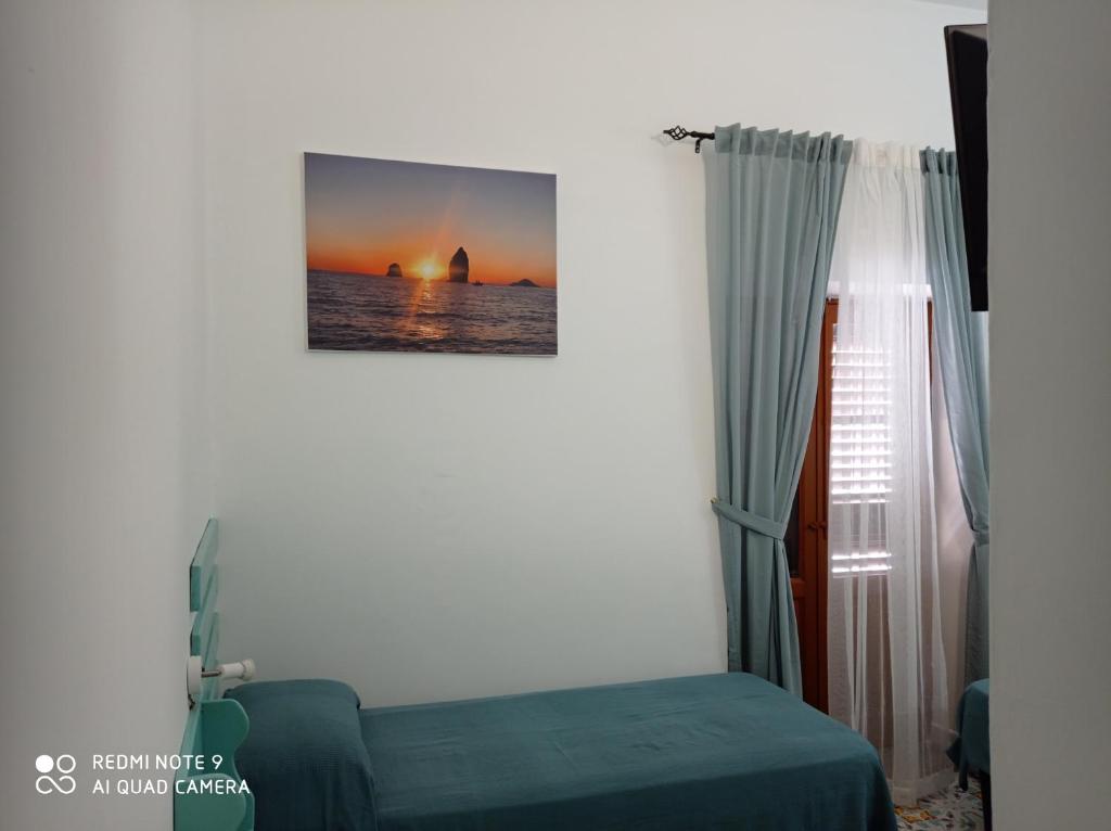
[[[204,668],[217,540],[212,520],[190,568]],[[370,709],[338,681],[217,684],[182,753],[223,761],[179,771],[176,831],[895,829],[872,747],[745,673]]]

